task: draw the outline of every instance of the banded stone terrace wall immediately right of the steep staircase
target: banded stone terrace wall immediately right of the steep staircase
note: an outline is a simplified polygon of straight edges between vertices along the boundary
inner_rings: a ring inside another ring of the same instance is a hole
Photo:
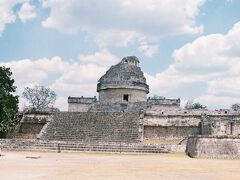
[[[189,135],[200,134],[201,116],[166,112],[146,113],[143,119],[144,138],[184,140]]]

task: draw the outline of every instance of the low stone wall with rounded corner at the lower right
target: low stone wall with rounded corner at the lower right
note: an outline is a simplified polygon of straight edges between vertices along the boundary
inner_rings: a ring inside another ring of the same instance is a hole
[[[194,158],[240,158],[240,136],[190,136],[186,154]]]

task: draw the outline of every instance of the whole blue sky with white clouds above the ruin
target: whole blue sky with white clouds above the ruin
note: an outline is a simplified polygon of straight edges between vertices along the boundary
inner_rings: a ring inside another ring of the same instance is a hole
[[[238,0],[0,0],[0,65],[19,95],[50,86],[66,110],[67,96],[96,95],[109,66],[135,55],[150,96],[227,108],[240,102],[239,8]]]

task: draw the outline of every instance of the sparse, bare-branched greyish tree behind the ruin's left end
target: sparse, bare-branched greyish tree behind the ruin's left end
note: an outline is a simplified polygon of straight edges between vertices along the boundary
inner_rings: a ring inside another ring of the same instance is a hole
[[[30,108],[36,110],[52,108],[56,101],[55,92],[44,86],[26,87],[22,95],[30,103]]]

